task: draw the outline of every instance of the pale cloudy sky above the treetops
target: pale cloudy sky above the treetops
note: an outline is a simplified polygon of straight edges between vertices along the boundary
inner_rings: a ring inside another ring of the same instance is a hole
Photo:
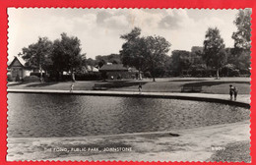
[[[210,9],[71,9],[8,8],[8,58],[35,43],[38,37],[60,38],[62,32],[81,40],[87,58],[119,53],[121,34],[140,27],[142,35],[160,35],[172,50],[191,50],[203,46],[209,27],[218,27],[225,47],[233,47],[232,32],[238,10]]]

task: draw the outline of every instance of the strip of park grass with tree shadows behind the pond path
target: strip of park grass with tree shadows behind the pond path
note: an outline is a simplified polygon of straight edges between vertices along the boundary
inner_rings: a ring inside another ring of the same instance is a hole
[[[139,83],[142,83],[144,92],[181,92],[183,86],[202,86],[202,93],[228,94],[229,84],[238,88],[239,94],[250,94],[250,78],[163,78],[152,82],[150,79],[143,81],[78,81],[74,90],[92,90],[95,84],[99,84],[107,90],[138,91]],[[10,83],[8,88],[13,89],[60,89],[69,90],[71,82],[63,83]]]

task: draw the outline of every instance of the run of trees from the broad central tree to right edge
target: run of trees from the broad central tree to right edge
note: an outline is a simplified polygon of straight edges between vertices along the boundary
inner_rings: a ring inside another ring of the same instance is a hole
[[[141,37],[141,29],[135,27],[131,32],[121,35],[125,40],[120,51],[122,62],[147,73],[154,81],[156,75],[216,75],[217,79],[220,77],[220,71],[224,76],[238,75],[239,71],[248,75],[251,48],[250,16],[250,9],[239,10],[236,15],[233,23],[237,31],[231,36],[234,39],[233,48],[225,48],[220,29],[209,27],[202,48],[192,47],[191,52],[174,50],[171,56],[166,55],[171,45],[168,41],[160,36]]]

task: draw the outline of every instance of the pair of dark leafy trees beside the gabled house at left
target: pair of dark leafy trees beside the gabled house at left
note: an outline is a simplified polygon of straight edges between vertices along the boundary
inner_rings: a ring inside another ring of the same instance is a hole
[[[22,57],[27,66],[39,70],[40,79],[42,71],[58,80],[63,72],[73,75],[86,64],[86,54],[81,54],[80,40],[66,33],[61,33],[61,38],[53,42],[47,37],[39,37],[36,43],[23,48]]]

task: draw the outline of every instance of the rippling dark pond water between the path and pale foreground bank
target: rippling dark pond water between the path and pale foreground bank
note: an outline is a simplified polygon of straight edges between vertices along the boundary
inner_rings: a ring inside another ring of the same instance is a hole
[[[246,108],[146,97],[8,93],[8,137],[160,132],[250,119]]]

